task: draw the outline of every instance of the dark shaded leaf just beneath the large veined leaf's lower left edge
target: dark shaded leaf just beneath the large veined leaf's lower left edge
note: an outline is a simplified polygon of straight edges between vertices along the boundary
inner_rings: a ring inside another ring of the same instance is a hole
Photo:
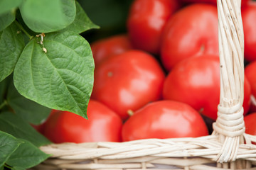
[[[50,114],[51,109],[21,96],[14,84],[9,85],[7,102],[15,113],[34,125],[41,124]]]

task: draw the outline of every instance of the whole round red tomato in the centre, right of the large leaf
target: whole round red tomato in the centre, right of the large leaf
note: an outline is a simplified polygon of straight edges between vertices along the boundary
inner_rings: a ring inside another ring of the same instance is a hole
[[[95,69],[92,98],[112,108],[123,120],[150,101],[161,98],[164,71],[146,52],[130,50]]]

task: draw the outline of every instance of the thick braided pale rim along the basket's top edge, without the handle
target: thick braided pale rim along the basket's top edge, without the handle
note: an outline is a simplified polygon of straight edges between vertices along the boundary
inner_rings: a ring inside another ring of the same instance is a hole
[[[256,137],[245,134],[250,142]],[[58,159],[131,159],[137,157],[204,157],[215,159],[222,144],[218,136],[196,138],[147,139],[132,142],[63,143],[41,147],[43,152]],[[253,155],[251,155],[253,154]],[[256,161],[256,145],[241,144],[238,159]]]

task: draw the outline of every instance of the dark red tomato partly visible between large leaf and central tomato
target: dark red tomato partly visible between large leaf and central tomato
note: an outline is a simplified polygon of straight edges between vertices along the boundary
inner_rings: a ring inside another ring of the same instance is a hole
[[[95,66],[97,66],[107,57],[131,50],[132,44],[129,41],[128,36],[122,34],[92,42],[91,48]]]

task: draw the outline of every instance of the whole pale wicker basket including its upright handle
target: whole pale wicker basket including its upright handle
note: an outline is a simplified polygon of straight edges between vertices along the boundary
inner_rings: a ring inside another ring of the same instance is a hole
[[[220,104],[213,134],[132,142],[63,143],[41,147],[52,156],[34,169],[256,169],[256,137],[243,121],[241,0],[218,0]]]

